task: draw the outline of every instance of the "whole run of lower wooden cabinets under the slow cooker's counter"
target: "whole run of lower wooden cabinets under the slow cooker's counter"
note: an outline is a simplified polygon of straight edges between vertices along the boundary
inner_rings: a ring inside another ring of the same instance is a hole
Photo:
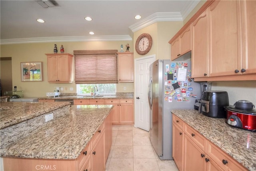
[[[180,171],[248,170],[174,114],[172,121],[172,157]]]

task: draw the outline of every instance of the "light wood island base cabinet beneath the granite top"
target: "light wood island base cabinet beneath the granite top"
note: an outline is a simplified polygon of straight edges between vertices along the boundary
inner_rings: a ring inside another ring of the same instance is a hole
[[[3,157],[4,171],[104,171],[112,145],[112,110],[77,159]]]

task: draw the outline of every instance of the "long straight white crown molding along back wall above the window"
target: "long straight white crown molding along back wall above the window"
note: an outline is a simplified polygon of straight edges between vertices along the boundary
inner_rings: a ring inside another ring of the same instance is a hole
[[[28,44],[28,43],[48,43],[48,42],[96,42],[96,41],[132,41],[129,35],[113,36],[60,36],[42,38],[18,38],[2,39],[0,44]]]

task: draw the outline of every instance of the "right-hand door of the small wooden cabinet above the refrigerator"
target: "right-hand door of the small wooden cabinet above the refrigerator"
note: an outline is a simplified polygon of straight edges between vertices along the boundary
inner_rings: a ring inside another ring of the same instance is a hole
[[[180,55],[191,50],[191,25],[180,34]]]

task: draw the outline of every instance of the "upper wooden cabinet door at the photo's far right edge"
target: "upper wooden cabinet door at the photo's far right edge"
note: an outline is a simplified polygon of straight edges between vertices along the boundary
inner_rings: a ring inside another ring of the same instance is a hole
[[[242,69],[243,74],[256,73],[256,1],[243,0],[242,14]],[[242,72],[242,71],[240,71]]]

